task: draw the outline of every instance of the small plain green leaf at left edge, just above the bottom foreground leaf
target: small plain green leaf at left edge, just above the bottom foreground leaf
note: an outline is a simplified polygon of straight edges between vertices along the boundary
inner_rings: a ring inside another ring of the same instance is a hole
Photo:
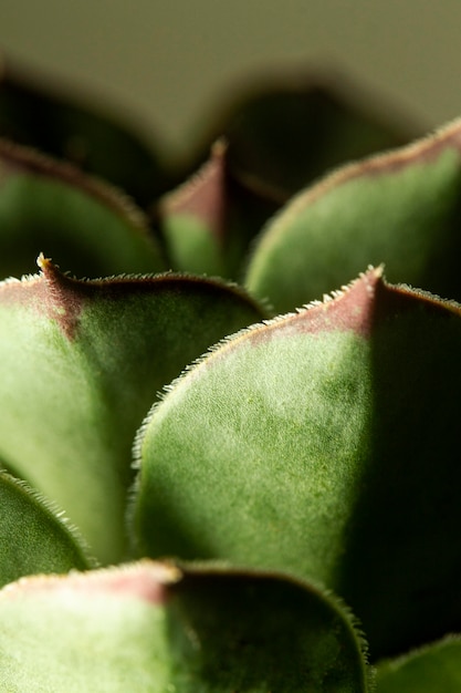
[[[0,469],[0,586],[93,565],[75,531],[44,499]]]

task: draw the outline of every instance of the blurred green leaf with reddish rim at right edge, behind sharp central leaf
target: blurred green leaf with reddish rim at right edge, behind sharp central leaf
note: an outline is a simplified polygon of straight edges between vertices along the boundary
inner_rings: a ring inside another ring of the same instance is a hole
[[[461,122],[347,166],[295,197],[260,236],[247,286],[283,312],[368,265],[461,299]]]

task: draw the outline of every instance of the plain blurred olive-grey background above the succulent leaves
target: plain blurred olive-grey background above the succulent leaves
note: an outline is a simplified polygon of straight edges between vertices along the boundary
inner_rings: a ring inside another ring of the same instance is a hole
[[[176,151],[242,75],[286,64],[425,127],[461,114],[459,0],[1,0],[0,49]]]

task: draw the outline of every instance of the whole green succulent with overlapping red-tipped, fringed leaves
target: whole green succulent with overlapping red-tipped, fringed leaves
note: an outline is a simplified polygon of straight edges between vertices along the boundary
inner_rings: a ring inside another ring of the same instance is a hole
[[[6,65],[1,689],[460,692],[461,122],[281,75],[167,165]]]

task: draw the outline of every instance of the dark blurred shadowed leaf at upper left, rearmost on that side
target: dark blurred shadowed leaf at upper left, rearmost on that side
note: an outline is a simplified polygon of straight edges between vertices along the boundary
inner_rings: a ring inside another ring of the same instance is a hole
[[[0,56],[0,136],[72,162],[147,207],[170,185],[159,153],[104,108],[80,104],[45,76],[24,76]]]

